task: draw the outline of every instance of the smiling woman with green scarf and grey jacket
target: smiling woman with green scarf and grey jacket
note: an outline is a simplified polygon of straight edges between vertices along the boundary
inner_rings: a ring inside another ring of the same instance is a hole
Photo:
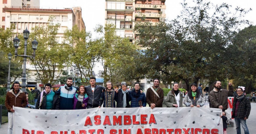
[[[202,107],[205,105],[205,100],[202,94],[197,90],[196,83],[190,85],[190,91],[186,94],[184,98],[184,104],[187,107]]]

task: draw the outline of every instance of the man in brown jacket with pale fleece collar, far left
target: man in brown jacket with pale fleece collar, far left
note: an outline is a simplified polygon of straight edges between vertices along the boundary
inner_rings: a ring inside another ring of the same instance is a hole
[[[26,107],[27,105],[26,95],[19,87],[19,82],[15,81],[11,90],[6,93],[5,107],[8,110],[8,134],[12,134],[13,132],[13,106]]]

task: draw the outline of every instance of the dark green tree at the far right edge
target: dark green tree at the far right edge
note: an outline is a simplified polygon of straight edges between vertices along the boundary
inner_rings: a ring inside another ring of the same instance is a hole
[[[227,48],[225,63],[230,79],[237,86],[245,86],[246,93],[256,89],[256,26],[239,31],[233,44]]]

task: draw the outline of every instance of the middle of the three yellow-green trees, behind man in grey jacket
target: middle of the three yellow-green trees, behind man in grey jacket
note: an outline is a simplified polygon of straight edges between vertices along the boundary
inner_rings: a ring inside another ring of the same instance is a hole
[[[64,33],[65,42],[72,44],[70,62],[73,67],[79,70],[81,82],[88,82],[92,76],[92,69],[98,61],[99,45],[98,39],[91,40],[91,33],[85,30],[79,31],[77,26]]]

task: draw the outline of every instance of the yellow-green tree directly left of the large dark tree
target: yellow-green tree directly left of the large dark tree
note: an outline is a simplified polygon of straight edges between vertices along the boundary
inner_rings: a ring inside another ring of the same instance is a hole
[[[100,38],[100,60],[103,66],[102,77],[104,83],[112,81],[119,83],[128,80],[127,74],[123,69],[133,61],[133,53],[136,51],[135,44],[129,42],[128,38],[120,38],[115,34],[115,27],[106,24],[103,30],[102,26],[97,29],[98,32],[104,33],[104,37]]]

